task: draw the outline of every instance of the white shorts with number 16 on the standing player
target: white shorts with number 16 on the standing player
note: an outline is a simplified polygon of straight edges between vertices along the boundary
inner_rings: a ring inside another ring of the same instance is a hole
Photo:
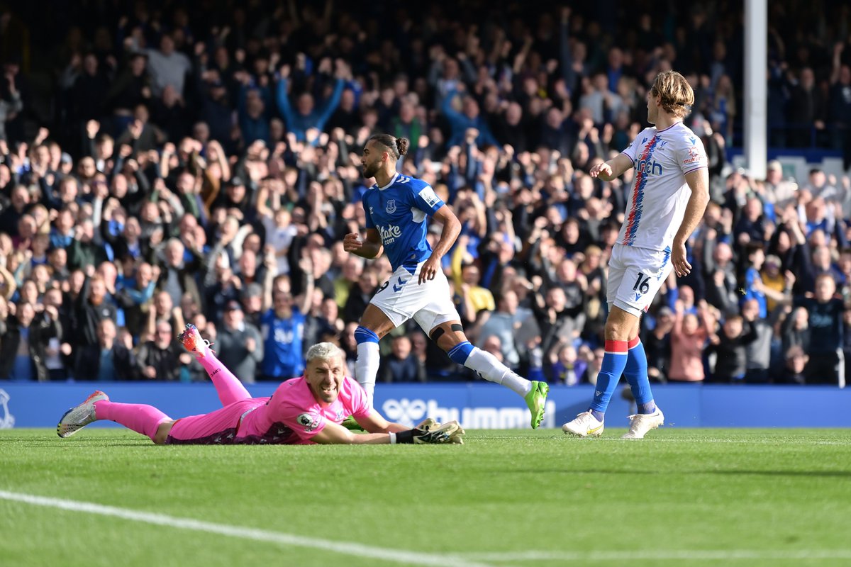
[[[640,317],[671,274],[671,247],[651,250],[615,244],[608,260],[608,304]]]

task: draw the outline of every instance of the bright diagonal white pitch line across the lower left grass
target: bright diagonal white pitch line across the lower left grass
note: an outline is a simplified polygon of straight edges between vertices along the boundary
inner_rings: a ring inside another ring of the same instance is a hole
[[[417,553],[403,549],[388,549],[385,547],[372,547],[362,543],[346,541],[323,540],[318,537],[295,536],[283,532],[258,530],[254,528],[243,528],[236,525],[214,524],[191,518],[175,518],[162,513],[140,512],[112,506],[103,506],[94,502],[78,502],[62,498],[49,498],[45,496],[34,496],[18,492],[0,490],[0,499],[13,502],[24,502],[35,506],[54,507],[70,512],[85,512],[98,514],[100,516],[111,516],[112,518],[129,519],[146,524],[165,525],[169,528],[181,530],[203,531],[220,536],[241,537],[254,541],[266,541],[283,546],[312,547],[327,552],[343,553],[363,558],[384,559],[396,563],[409,565],[437,565],[443,567],[489,567],[487,564],[477,563],[471,558],[461,558],[457,555],[439,555],[437,553]]]

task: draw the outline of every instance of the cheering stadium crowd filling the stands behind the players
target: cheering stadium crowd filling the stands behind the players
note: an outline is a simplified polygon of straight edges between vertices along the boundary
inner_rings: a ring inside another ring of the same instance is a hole
[[[471,340],[530,379],[593,383],[632,174],[587,172],[646,125],[645,89],[673,68],[697,95],[712,201],[691,275],[643,318],[651,378],[843,385],[851,179],[729,166],[731,4],[57,5],[49,105],[3,14],[0,379],[206,380],[174,341],[188,322],[245,383],[300,375],[319,341],[353,365],[391,269],[342,236],[364,226],[364,142],[391,133],[411,140],[400,170],[463,224],[443,267]],[[848,166],[851,9],[811,4],[769,7],[770,142]],[[380,381],[471,379],[414,326],[382,354]]]

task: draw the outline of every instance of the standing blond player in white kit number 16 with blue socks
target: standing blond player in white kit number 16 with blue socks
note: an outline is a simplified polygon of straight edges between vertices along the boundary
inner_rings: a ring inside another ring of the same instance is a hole
[[[682,75],[661,72],[647,95],[647,120],[654,128],[645,128],[614,159],[591,167],[591,177],[603,181],[619,177],[630,167],[636,173],[624,224],[608,264],[609,313],[603,369],[597,375],[591,408],[563,425],[567,434],[603,434],[603,414],[621,373],[626,375],[638,405],[623,438],[643,439],[650,429],[665,422],[650,391],[638,323],[671,269],[681,277],[691,271],[686,241],[709,201],[703,143],[683,125],[693,103],[694,91]]]

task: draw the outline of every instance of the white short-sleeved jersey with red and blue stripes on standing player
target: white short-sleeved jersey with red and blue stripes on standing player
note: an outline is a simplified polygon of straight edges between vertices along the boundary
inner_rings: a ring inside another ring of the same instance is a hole
[[[618,243],[664,251],[683,224],[691,196],[686,174],[707,167],[703,142],[675,122],[664,130],[643,129],[621,153],[632,160],[636,174]]]

